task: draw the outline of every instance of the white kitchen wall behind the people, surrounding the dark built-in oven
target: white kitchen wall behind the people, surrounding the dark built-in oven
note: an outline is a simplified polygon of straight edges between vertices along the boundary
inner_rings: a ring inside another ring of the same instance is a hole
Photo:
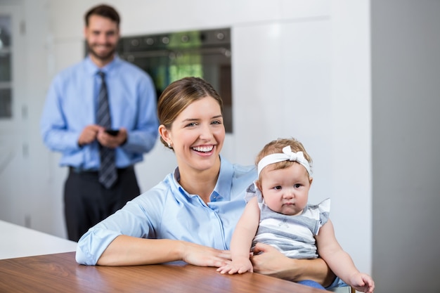
[[[65,169],[39,138],[51,78],[83,55],[83,15],[101,1],[24,0],[27,93],[32,96],[32,228],[64,236]],[[1,4],[1,2],[0,2]],[[113,0],[122,34],[231,27],[234,133],[224,155],[253,164],[278,137],[299,138],[313,157],[311,202],[332,198],[332,221],[361,271],[371,271],[371,131],[368,1]],[[32,36],[31,36],[32,32]],[[31,41],[29,43],[31,45]],[[347,82],[347,80],[349,82]],[[175,167],[157,143],[136,167],[146,190]],[[19,221],[20,222],[20,221]]]

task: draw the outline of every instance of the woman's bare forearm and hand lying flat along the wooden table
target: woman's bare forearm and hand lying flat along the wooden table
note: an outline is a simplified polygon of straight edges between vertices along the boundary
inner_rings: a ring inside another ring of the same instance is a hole
[[[142,264],[185,261],[195,266],[224,266],[231,259],[228,251],[205,247],[194,243],[144,239],[119,235],[98,259],[101,266],[134,266]]]

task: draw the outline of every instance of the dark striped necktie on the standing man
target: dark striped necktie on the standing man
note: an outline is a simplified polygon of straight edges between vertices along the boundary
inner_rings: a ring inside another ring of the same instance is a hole
[[[102,84],[98,96],[98,112],[96,114],[96,122],[105,129],[110,129],[112,127],[112,119],[110,117],[110,108],[108,106],[108,92],[107,85],[105,84],[105,73],[100,71],[98,74],[101,76]],[[98,171],[98,180],[105,186],[105,188],[110,188],[117,179],[115,150],[100,145],[99,151],[101,155],[101,167]]]

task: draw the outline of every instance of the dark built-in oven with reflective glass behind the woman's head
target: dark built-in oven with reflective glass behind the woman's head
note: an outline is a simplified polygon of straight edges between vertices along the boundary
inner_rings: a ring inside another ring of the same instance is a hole
[[[224,100],[226,132],[232,133],[231,30],[197,30],[122,37],[119,57],[148,72],[157,97],[182,77],[202,77]]]

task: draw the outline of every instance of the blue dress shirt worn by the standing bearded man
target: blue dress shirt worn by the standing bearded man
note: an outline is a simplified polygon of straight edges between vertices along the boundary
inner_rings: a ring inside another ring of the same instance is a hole
[[[96,124],[96,108],[101,77],[108,86],[112,129],[124,127],[128,137],[116,149],[116,166],[128,167],[143,159],[157,140],[157,98],[152,79],[140,68],[115,57],[98,68],[89,57],[60,72],[46,98],[40,128],[49,149],[62,152],[60,166],[98,169],[98,142],[79,147],[85,126]]]

